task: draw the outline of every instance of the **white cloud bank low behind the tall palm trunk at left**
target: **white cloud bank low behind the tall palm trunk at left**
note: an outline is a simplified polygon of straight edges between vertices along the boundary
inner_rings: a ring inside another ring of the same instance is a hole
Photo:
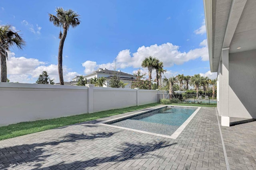
[[[58,65],[39,61],[38,59],[15,57],[15,53],[8,52],[7,76],[11,82],[35,83],[38,76],[46,71],[54,82],[59,82]],[[64,81],[71,80],[77,72],[70,72],[66,66],[63,66]]]

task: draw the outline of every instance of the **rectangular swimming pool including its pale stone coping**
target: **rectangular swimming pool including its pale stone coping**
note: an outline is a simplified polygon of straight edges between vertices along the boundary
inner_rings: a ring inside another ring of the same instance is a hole
[[[162,106],[104,122],[103,125],[176,139],[199,107]]]

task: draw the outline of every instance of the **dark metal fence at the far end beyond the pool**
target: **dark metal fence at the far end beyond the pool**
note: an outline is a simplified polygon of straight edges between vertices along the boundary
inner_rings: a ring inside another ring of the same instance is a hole
[[[181,103],[181,104],[206,104],[206,105],[216,105],[216,95],[212,98],[212,94],[173,94],[170,98],[170,94],[157,94],[157,100],[160,102],[161,99],[169,99],[171,103]]]

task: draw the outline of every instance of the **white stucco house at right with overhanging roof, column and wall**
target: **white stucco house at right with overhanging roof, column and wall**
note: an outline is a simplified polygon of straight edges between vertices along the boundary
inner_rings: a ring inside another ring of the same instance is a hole
[[[204,0],[211,72],[222,126],[256,118],[256,1]]]

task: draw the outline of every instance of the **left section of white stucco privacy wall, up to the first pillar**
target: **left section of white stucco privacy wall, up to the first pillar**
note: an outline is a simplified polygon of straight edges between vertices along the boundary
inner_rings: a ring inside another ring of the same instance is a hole
[[[87,87],[0,83],[0,125],[88,112]]]

